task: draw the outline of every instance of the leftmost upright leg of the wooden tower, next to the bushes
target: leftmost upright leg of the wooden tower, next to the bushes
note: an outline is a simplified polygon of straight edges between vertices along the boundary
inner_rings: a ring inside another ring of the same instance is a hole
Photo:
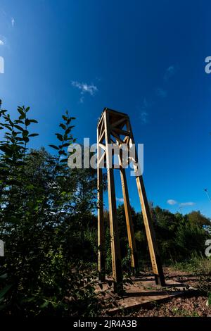
[[[97,130],[97,189],[98,189],[98,279],[102,282],[106,279],[106,258],[105,258],[105,235],[103,220],[103,170],[100,168],[100,148],[98,144]]]

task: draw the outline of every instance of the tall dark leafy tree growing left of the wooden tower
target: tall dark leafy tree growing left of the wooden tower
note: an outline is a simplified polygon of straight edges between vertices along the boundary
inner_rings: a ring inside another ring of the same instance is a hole
[[[89,182],[87,174],[79,176],[67,164],[65,148],[75,142],[71,134],[74,118],[63,115],[63,132],[56,133],[58,145],[51,145],[56,155],[51,155],[27,147],[30,137],[37,135],[28,130],[31,123],[37,123],[28,118],[29,110],[18,107],[16,120],[6,110],[0,111],[1,130],[6,130],[0,142],[0,225],[6,243],[0,266],[0,291],[5,286],[1,310],[28,316],[71,314],[80,308],[81,314],[83,309],[89,314],[96,304],[94,287],[84,287],[85,275],[77,272],[80,263],[69,254],[79,237],[74,216],[80,208],[75,196],[79,182],[84,183],[85,177]],[[86,215],[91,213],[89,199],[93,198],[89,189],[94,191],[94,181],[90,186],[87,182]],[[82,199],[81,208],[83,203]],[[73,226],[76,233],[71,231]],[[81,259],[83,245],[77,254]],[[70,301],[65,301],[67,294]]]

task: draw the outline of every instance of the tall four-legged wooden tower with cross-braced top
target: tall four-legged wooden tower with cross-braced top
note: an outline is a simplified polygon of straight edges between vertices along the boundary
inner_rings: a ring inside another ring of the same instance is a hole
[[[128,148],[134,146],[134,136],[132,133],[132,126],[129,121],[129,116],[125,113],[113,111],[105,108],[97,127],[97,177],[98,177],[98,277],[99,280],[104,281],[105,275],[105,249],[104,249],[104,226],[103,226],[103,169],[102,165],[106,165],[108,178],[108,202],[109,202],[109,219],[110,219],[110,242],[112,254],[113,280],[115,292],[122,290],[122,267],[120,256],[120,241],[117,226],[117,210],[115,199],[115,181],[114,169],[117,168],[113,162],[113,156],[110,156],[109,144],[113,144],[116,149],[119,149],[118,160],[119,169],[122,182],[122,194],[124,198],[124,211],[127,223],[127,236],[129,241],[129,248],[131,250],[131,264],[134,270],[138,266],[138,258],[136,252],[136,242],[134,238],[134,229],[132,224],[131,207],[129,204],[129,192],[127,189],[127,179],[125,174],[125,160],[122,156],[122,144],[127,144]],[[124,145],[125,146],[125,145]],[[135,150],[134,159],[127,159],[126,162],[132,161],[134,171],[136,174],[136,165],[138,164],[138,155]],[[153,230],[153,223],[150,209],[146,197],[146,191],[143,184],[142,175],[135,175],[136,185],[139,192],[139,199],[141,201],[141,209],[143,213],[143,222],[146,230],[146,237],[148,242],[148,249],[151,256],[151,264],[153,274],[155,275],[156,284],[165,286],[165,278],[160,263],[160,256],[158,246],[155,241],[155,233]]]

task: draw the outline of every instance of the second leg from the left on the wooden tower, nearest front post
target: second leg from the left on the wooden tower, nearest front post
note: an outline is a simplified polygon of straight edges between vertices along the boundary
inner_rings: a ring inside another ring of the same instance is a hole
[[[122,292],[122,264],[120,255],[120,240],[117,226],[117,207],[115,198],[115,182],[112,168],[112,159],[110,160],[108,144],[110,144],[110,123],[109,113],[105,111],[105,134],[106,134],[106,159],[107,159],[107,175],[108,175],[108,202],[109,202],[109,218],[110,218],[110,244],[112,255],[112,268],[114,279],[115,292]]]

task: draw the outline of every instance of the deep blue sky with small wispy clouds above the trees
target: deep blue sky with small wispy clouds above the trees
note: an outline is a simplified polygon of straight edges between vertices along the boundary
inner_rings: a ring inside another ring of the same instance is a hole
[[[0,0],[0,98],[39,120],[33,147],[54,142],[60,116],[75,116],[78,142],[96,142],[106,106],[128,113],[144,144],[148,199],[211,217],[209,1]],[[118,176],[119,174],[117,174]],[[140,210],[135,180],[132,206]],[[118,203],[122,198],[116,182]],[[168,200],[171,204],[168,204]],[[173,204],[175,202],[175,204]]]

